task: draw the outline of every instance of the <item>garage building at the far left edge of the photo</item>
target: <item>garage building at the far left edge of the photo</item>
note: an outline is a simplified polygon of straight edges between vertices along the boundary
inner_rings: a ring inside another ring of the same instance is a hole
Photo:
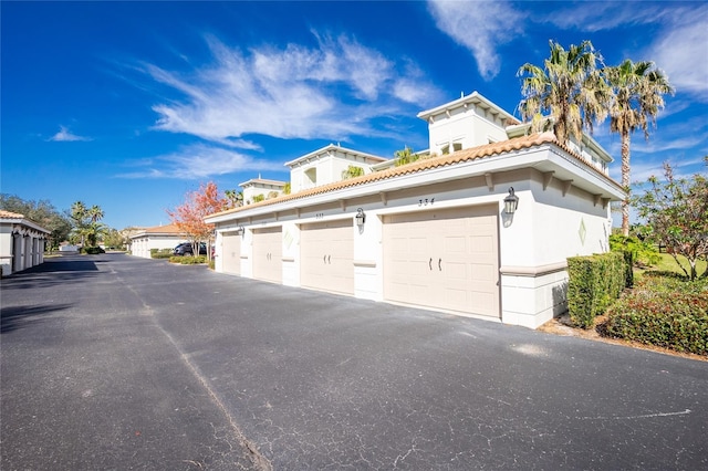
[[[44,262],[44,247],[51,231],[23,214],[0,210],[0,264],[2,276]]]

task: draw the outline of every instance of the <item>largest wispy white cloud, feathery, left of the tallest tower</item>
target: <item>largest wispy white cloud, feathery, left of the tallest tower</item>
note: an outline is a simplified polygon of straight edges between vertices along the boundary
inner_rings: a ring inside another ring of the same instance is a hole
[[[155,127],[251,149],[257,146],[242,136],[345,140],[379,135],[369,122],[382,105],[391,112],[437,98],[419,75],[415,93],[410,83],[404,86],[407,64],[398,67],[352,38],[315,38],[313,49],[290,44],[242,51],[209,36],[214,62],[208,66],[187,74],[144,64],[156,82],[184,95],[153,107],[159,115]]]

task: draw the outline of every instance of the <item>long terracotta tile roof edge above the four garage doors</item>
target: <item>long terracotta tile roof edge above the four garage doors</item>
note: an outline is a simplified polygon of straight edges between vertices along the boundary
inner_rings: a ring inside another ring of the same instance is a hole
[[[431,168],[447,167],[450,165],[461,164],[461,163],[471,161],[471,160],[478,160],[485,157],[491,157],[499,154],[528,149],[528,148],[540,146],[543,144],[554,144],[561,147],[563,150],[565,150],[566,153],[571,154],[572,156],[581,160],[592,170],[598,172],[604,177],[607,177],[606,175],[597,170],[595,167],[587,164],[585,159],[583,159],[581,156],[579,156],[568,146],[560,144],[553,133],[546,132],[546,133],[531,134],[529,136],[514,137],[512,139],[501,140],[499,143],[486,144],[483,146],[471,147],[469,149],[458,150],[454,154],[448,154],[448,155],[442,155],[442,156],[431,157],[431,158],[424,158],[424,159],[414,161],[412,164],[403,165],[400,167],[393,167],[382,171],[374,171],[372,174],[367,174],[362,177],[356,177],[356,178],[351,178],[348,180],[342,180],[342,181],[335,181],[327,185],[322,185],[320,187],[310,188],[293,195],[282,195],[278,198],[268,199],[268,200],[259,201],[257,203],[242,206],[240,208],[233,208],[226,211],[217,212],[217,213],[210,214],[209,217],[211,218],[215,216],[236,213],[239,211],[258,208],[261,206],[269,206],[269,205],[274,205],[279,202],[291,201],[295,199],[306,198],[313,195],[322,195],[322,193],[326,193],[326,192],[343,189],[343,188],[366,185],[372,181],[386,180],[388,178],[394,178],[394,177],[398,177],[407,174],[416,174],[419,171],[429,170]]]

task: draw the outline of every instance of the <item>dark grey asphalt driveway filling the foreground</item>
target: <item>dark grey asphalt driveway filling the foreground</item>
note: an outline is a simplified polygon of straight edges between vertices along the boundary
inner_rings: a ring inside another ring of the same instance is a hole
[[[15,469],[706,469],[708,364],[169,265],[2,280]]]

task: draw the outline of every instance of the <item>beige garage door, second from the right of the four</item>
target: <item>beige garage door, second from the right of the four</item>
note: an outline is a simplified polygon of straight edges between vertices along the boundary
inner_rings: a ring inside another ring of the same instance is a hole
[[[300,229],[300,284],[354,294],[353,220],[303,224]]]

